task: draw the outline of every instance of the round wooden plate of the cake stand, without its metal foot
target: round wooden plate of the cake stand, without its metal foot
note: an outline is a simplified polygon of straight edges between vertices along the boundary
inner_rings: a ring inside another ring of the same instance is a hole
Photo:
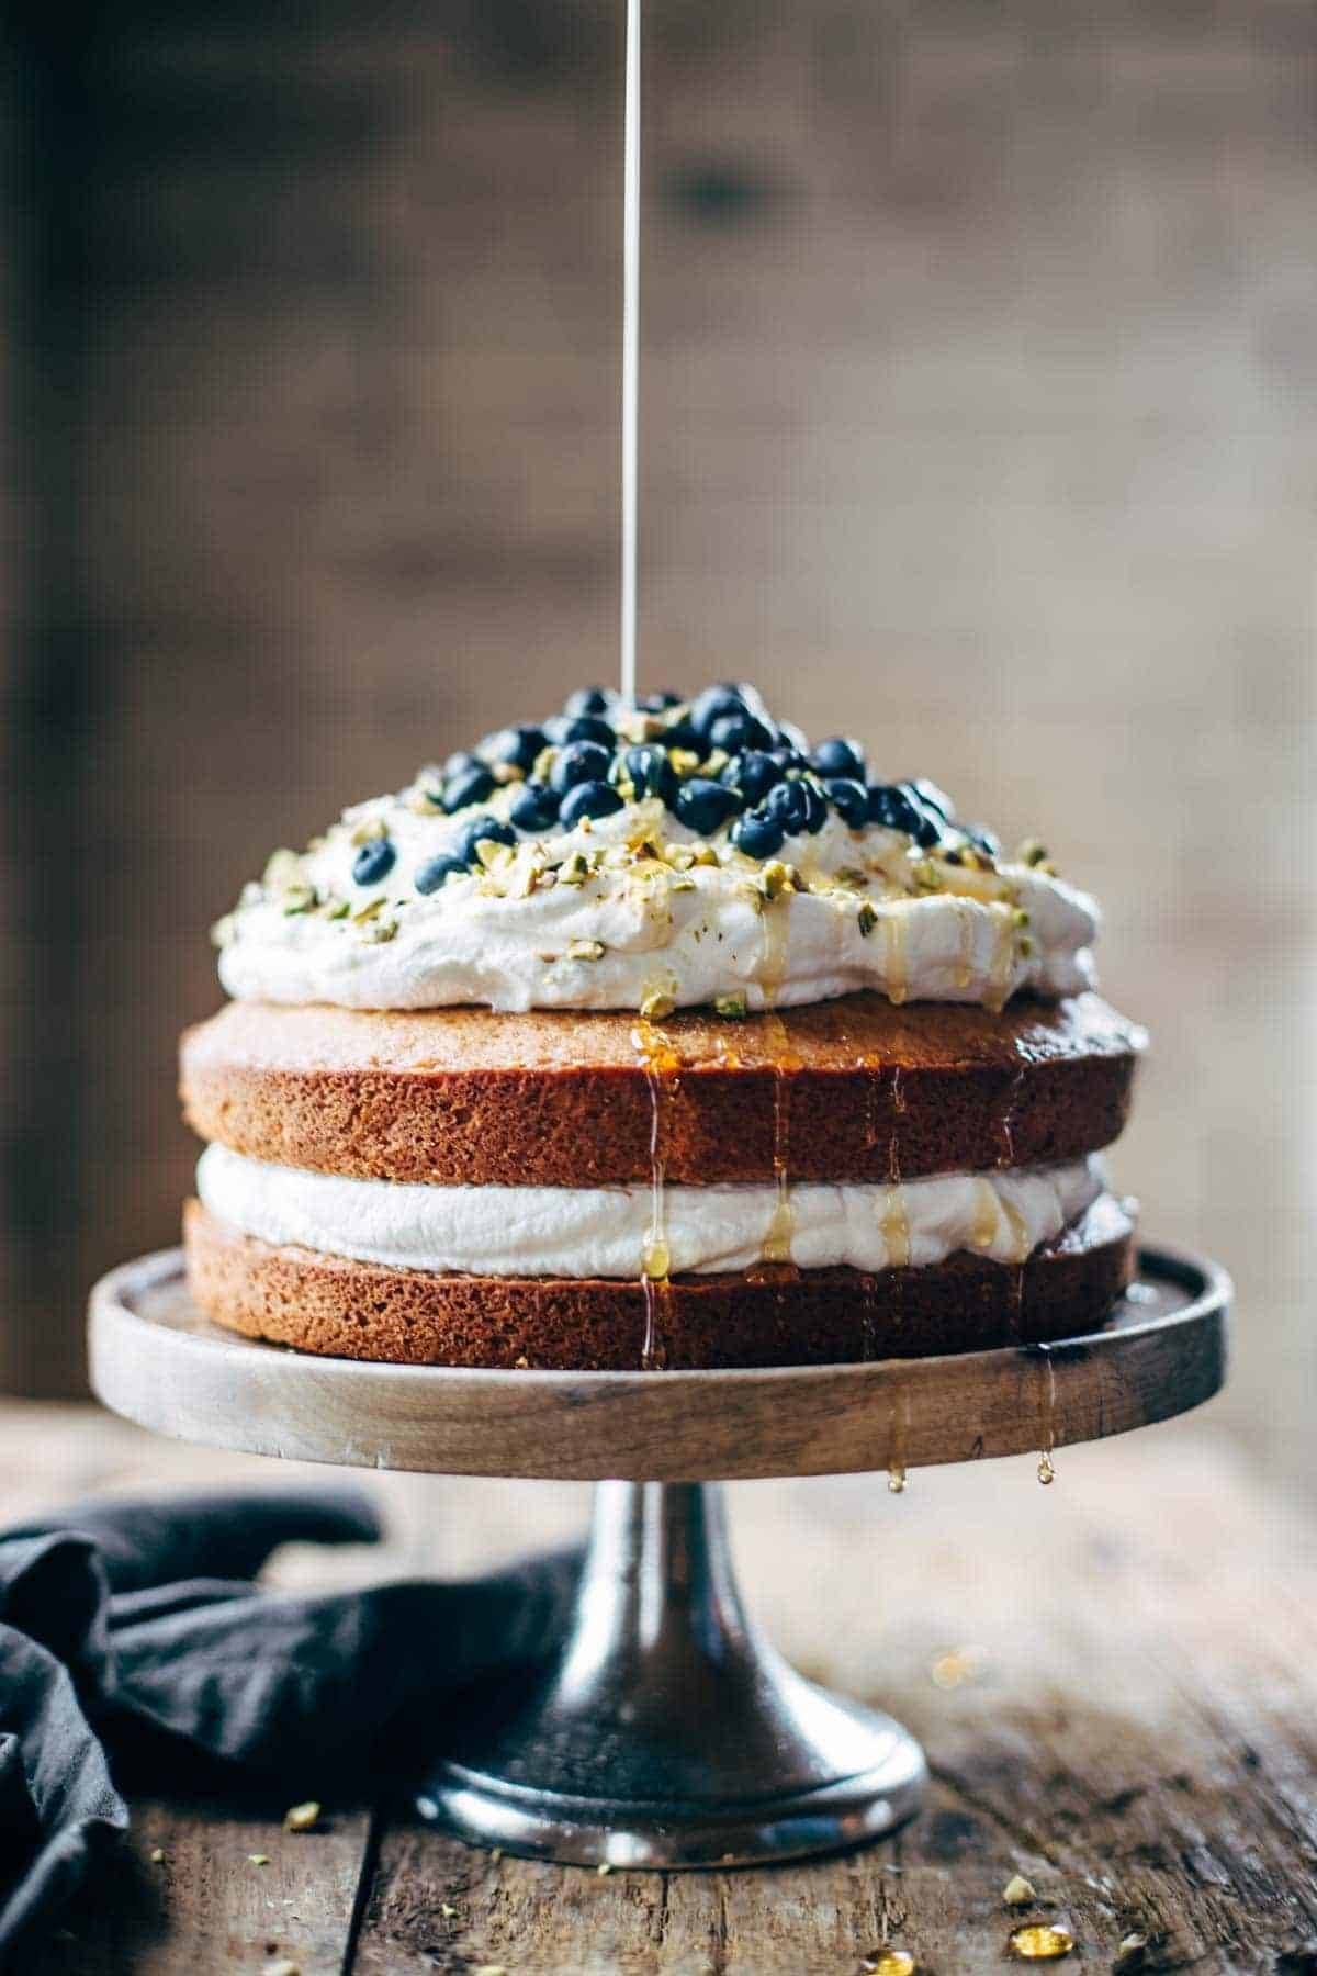
[[[105,1276],[91,1381],[180,1441],[425,1474],[638,1482],[904,1470],[1098,1441],[1218,1391],[1230,1280],[1145,1249],[1112,1322],[1054,1346],[754,1371],[484,1371],[255,1344],[192,1302],[178,1249]]]

